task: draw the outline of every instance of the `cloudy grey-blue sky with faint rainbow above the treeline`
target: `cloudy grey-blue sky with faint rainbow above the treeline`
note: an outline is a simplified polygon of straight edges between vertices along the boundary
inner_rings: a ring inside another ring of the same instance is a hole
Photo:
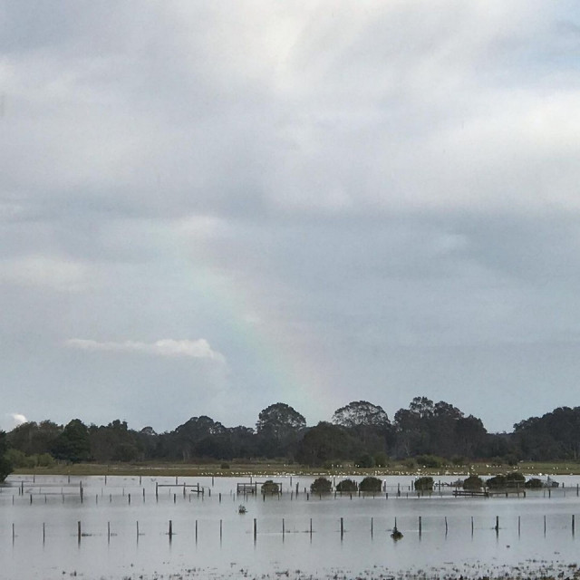
[[[580,404],[570,0],[0,0],[0,428]]]

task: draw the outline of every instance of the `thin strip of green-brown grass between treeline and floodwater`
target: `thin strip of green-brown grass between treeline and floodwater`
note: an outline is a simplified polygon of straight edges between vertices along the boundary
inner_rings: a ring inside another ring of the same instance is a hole
[[[223,469],[220,462],[215,463],[111,463],[109,465],[98,463],[56,464],[51,467],[21,468],[14,469],[14,474],[43,475],[121,475],[121,476],[159,476],[159,477],[243,477],[243,476],[281,476],[281,475],[304,475],[304,476],[493,476],[508,471],[520,471],[526,475],[558,476],[580,475],[580,462],[574,461],[551,461],[551,462],[520,462],[516,466],[507,464],[476,462],[466,465],[445,465],[440,468],[424,468],[412,465],[409,461],[391,462],[385,468],[361,469],[352,464],[334,466],[332,469],[310,468],[298,464],[287,464],[283,461],[256,461],[256,462],[230,462],[229,469]]]

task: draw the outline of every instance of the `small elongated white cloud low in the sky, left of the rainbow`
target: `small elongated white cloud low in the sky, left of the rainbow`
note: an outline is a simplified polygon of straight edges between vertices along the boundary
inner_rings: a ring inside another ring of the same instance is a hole
[[[108,351],[116,353],[144,353],[163,357],[190,357],[226,362],[223,354],[214,351],[205,338],[196,341],[176,341],[170,338],[161,339],[155,343],[140,343],[125,341],[123,343],[103,342],[72,338],[65,343],[71,348],[84,351]]]

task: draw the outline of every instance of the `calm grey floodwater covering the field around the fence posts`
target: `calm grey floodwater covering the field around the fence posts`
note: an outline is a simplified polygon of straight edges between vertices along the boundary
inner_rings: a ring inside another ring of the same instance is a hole
[[[382,478],[374,497],[319,498],[304,493],[313,479],[274,477],[283,493],[263,498],[237,496],[243,477],[11,476],[0,488],[0,580],[576,572],[580,478],[526,498],[453,498],[447,487],[418,498],[409,476]]]

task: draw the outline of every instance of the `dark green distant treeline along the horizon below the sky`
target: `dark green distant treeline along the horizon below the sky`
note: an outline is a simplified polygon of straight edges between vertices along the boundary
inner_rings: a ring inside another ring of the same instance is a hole
[[[391,459],[412,459],[431,467],[442,460],[578,459],[580,407],[562,407],[522,420],[511,433],[488,433],[481,420],[457,407],[415,397],[389,419],[379,405],[353,401],[330,422],[307,427],[304,416],[277,402],[260,411],[255,428],[225,427],[207,416],[192,417],[175,430],[131,430],[126,421],[85,425],[71,420],[27,422],[0,432],[0,479],[11,467],[54,461],[199,461],[281,458],[308,466],[351,463],[383,467]]]

